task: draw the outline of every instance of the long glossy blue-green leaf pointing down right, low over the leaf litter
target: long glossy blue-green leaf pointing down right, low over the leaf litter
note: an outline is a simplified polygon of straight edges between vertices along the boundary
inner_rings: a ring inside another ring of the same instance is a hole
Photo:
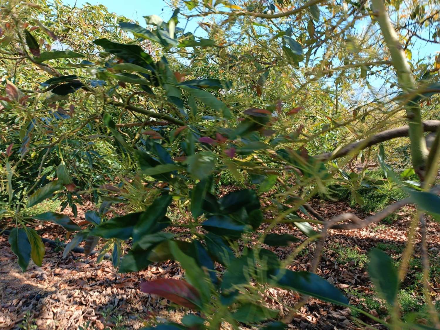
[[[323,301],[348,305],[348,299],[344,297],[341,291],[325,279],[307,271],[278,269],[273,275],[271,284],[284,289],[295,290]]]

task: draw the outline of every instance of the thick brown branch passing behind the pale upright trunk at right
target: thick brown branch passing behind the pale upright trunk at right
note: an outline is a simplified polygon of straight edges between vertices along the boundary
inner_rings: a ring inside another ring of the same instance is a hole
[[[439,120],[427,120],[422,122],[423,130],[425,132],[436,132],[437,128],[440,127]],[[371,147],[374,144],[381,143],[384,141],[388,141],[391,139],[395,139],[397,137],[408,136],[410,134],[410,126],[402,126],[399,128],[387,129],[386,131],[380,132],[376,135],[370,136],[367,139],[360,140],[355,143],[351,143],[348,146],[333,152],[327,152],[324,154],[320,154],[315,156],[316,158],[322,160],[331,160],[336,158],[341,158],[353,150],[362,150],[367,147]]]

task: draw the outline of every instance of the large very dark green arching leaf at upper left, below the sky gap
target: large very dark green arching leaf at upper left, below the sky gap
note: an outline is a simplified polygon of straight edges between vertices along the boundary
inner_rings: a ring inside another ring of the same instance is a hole
[[[106,38],[97,39],[93,43],[103,47],[107,52],[116,55],[125,62],[152,69],[153,59],[138,45],[118,44]]]

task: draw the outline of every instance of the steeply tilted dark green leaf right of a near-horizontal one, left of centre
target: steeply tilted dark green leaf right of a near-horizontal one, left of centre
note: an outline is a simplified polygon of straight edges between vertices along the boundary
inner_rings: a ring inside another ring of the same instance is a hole
[[[165,217],[169,204],[172,201],[171,195],[162,195],[154,200],[148,209],[139,217],[139,221],[133,227],[133,241],[136,242],[144,235],[161,231],[169,225],[169,219]]]

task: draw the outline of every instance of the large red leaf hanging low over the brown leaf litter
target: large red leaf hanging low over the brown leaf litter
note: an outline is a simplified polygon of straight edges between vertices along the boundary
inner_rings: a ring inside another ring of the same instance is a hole
[[[187,308],[198,309],[201,305],[200,295],[196,288],[186,281],[179,279],[157,279],[143,282],[140,290],[145,293],[164,297],[173,303]]]

